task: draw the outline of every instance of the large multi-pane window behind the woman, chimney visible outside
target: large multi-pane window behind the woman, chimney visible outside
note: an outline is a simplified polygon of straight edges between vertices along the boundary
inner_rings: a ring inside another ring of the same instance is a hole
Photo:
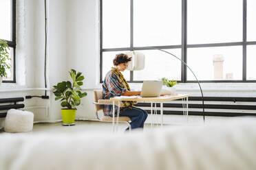
[[[255,0],[100,1],[100,81],[116,53],[140,51],[145,69],[129,82],[256,82]]]

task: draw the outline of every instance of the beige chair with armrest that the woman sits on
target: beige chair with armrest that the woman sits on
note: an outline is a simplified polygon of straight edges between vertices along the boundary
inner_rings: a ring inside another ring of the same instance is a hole
[[[102,117],[98,117],[98,111],[103,110],[103,105],[113,104],[113,101],[109,99],[103,99],[103,90],[94,90],[94,106],[97,119],[103,122],[112,122],[113,123],[113,132],[115,132],[115,122],[118,123],[127,123],[129,127],[129,132],[131,132],[131,119],[129,117],[110,117],[103,115]],[[116,103],[116,106],[118,104]],[[120,105],[122,106],[122,104]],[[116,127],[117,128],[117,127]]]

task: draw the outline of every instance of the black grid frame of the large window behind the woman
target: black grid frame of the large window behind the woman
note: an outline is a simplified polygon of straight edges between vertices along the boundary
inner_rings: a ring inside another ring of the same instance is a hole
[[[152,46],[158,49],[181,49],[181,59],[187,62],[187,49],[198,47],[229,47],[229,46],[242,46],[242,80],[200,80],[200,82],[213,83],[213,82],[256,82],[256,80],[246,80],[246,47],[248,45],[256,45],[256,41],[246,40],[246,16],[247,16],[247,0],[242,0],[242,42],[220,42],[209,44],[187,44],[187,0],[182,0],[182,35],[181,45],[167,45],[167,46]],[[133,50],[149,50],[149,47],[134,47],[134,0],[130,0],[130,47],[126,48],[103,48],[103,0],[100,0],[100,83],[103,82],[103,52],[105,51],[133,51]],[[151,49],[153,50],[153,49]],[[196,80],[187,79],[187,68],[181,64],[181,83],[195,83]],[[130,71],[130,83],[142,83],[143,81],[134,81],[134,71]]]

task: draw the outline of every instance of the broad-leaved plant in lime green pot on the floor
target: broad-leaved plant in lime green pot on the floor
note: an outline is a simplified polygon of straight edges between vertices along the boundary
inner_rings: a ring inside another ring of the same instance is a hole
[[[69,71],[73,82],[59,82],[54,87],[55,100],[61,99],[61,115],[63,119],[63,125],[74,125],[76,117],[76,106],[81,104],[81,98],[85,97],[87,93],[81,92],[83,85],[83,77],[81,72],[76,73],[74,69]]]

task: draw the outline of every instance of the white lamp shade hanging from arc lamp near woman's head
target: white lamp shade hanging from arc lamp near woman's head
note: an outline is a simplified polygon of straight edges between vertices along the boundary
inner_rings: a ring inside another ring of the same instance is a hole
[[[145,68],[145,55],[137,51],[130,51],[127,56],[131,57],[131,62],[129,62],[128,70],[138,71]]]

